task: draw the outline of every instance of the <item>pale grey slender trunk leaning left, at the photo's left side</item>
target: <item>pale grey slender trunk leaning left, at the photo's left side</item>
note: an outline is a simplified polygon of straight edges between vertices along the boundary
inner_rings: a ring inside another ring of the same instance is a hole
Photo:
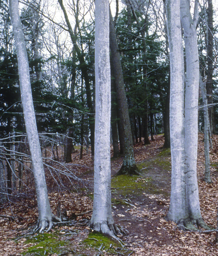
[[[35,190],[37,193],[37,203],[39,211],[39,228],[40,232],[47,226],[50,230],[52,228],[52,212],[49,204],[49,197],[47,194],[47,186],[45,181],[45,172],[43,166],[43,158],[41,156],[41,149],[39,144],[39,137],[37,132],[37,123],[35,121],[35,113],[33,107],[33,99],[31,92],[31,81],[29,77],[29,64],[27,57],[27,50],[25,46],[25,39],[23,37],[22,25],[19,16],[19,7],[17,0],[9,1],[11,23],[13,24],[13,31],[15,37],[15,46],[17,52],[17,61],[19,67],[19,79],[21,88],[21,100],[23,106],[23,114],[25,118],[27,137],[29,148],[31,151]]]

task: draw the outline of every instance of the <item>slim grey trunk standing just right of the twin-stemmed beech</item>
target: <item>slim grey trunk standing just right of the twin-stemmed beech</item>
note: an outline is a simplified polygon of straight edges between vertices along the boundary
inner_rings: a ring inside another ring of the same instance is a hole
[[[210,122],[208,115],[208,99],[206,94],[206,89],[204,82],[200,76],[199,84],[201,88],[201,94],[204,105],[204,159],[205,159],[205,169],[204,169],[204,181],[207,183],[211,183],[210,178],[210,138],[209,138],[209,130],[210,130]]]

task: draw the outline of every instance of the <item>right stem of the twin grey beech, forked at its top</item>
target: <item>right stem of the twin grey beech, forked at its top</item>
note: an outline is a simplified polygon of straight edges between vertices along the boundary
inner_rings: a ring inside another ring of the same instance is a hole
[[[198,19],[198,1],[195,3],[193,19],[187,0],[180,0],[181,24],[184,30],[186,79],[185,79],[185,166],[186,197],[189,207],[190,225],[203,226],[197,183],[197,147],[198,147],[198,91],[199,61],[196,25]],[[190,226],[191,227],[191,226]],[[195,228],[195,226],[193,226]]]

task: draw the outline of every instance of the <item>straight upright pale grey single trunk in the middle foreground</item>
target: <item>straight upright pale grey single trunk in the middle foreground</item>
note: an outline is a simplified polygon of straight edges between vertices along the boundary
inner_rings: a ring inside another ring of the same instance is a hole
[[[95,0],[95,158],[91,227],[115,237],[111,211],[109,2]]]

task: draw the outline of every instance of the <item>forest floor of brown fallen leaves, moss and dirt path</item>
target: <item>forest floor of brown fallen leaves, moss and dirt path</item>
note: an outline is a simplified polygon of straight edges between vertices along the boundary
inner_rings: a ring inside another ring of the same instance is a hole
[[[114,176],[122,165],[122,157],[111,159],[112,212],[114,222],[128,234],[116,242],[95,233],[88,226],[92,216],[93,162],[90,153],[83,159],[72,155],[75,175],[86,188],[57,190],[56,182],[47,180],[53,213],[57,202],[69,218],[68,222],[55,225],[49,233],[38,234],[33,230],[37,221],[37,203],[33,189],[16,193],[7,203],[0,205],[0,255],[218,255],[216,233],[204,234],[202,230],[181,231],[165,216],[169,207],[171,190],[170,151],[162,148],[164,138],[156,135],[150,145],[134,146],[135,159],[141,176]],[[203,135],[199,134],[198,185],[201,213],[204,221],[216,228],[218,200],[218,136],[213,138],[210,152],[211,178],[203,181]],[[64,182],[64,181],[63,181]],[[8,216],[8,217],[3,217]],[[11,218],[10,218],[11,217]]]

